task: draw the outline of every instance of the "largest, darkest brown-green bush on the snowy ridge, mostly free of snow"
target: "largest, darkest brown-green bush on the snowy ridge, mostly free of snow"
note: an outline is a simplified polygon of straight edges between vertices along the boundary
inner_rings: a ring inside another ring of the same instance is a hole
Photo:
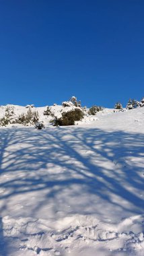
[[[61,118],[55,118],[53,123],[54,126],[65,126],[65,125],[75,125],[75,121],[80,121],[83,119],[83,111],[79,108],[75,108],[71,111],[62,113]]]

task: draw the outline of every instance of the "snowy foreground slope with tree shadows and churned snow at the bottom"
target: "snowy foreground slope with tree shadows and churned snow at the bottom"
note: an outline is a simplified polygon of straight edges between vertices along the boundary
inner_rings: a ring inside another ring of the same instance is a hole
[[[144,255],[144,108],[78,123],[0,128],[0,256]]]

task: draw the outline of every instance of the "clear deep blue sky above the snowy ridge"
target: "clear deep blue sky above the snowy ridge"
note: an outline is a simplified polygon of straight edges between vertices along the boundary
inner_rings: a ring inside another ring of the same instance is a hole
[[[0,0],[0,104],[144,96],[143,0]]]

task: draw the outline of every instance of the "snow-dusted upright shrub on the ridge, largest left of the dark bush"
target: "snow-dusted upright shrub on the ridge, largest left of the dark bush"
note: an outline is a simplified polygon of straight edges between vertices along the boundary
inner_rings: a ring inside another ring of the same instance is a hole
[[[23,125],[34,125],[38,121],[38,112],[34,111],[32,112],[31,108],[29,108],[28,112],[26,114],[22,113],[17,119],[17,123],[23,124]]]

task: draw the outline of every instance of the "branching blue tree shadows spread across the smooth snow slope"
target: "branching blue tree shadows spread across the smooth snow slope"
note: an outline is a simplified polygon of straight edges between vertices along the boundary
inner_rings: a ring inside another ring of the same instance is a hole
[[[21,197],[24,216],[38,216],[45,204],[52,214],[143,213],[143,134],[15,127],[0,129],[0,137],[2,216],[13,207],[18,214]]]

